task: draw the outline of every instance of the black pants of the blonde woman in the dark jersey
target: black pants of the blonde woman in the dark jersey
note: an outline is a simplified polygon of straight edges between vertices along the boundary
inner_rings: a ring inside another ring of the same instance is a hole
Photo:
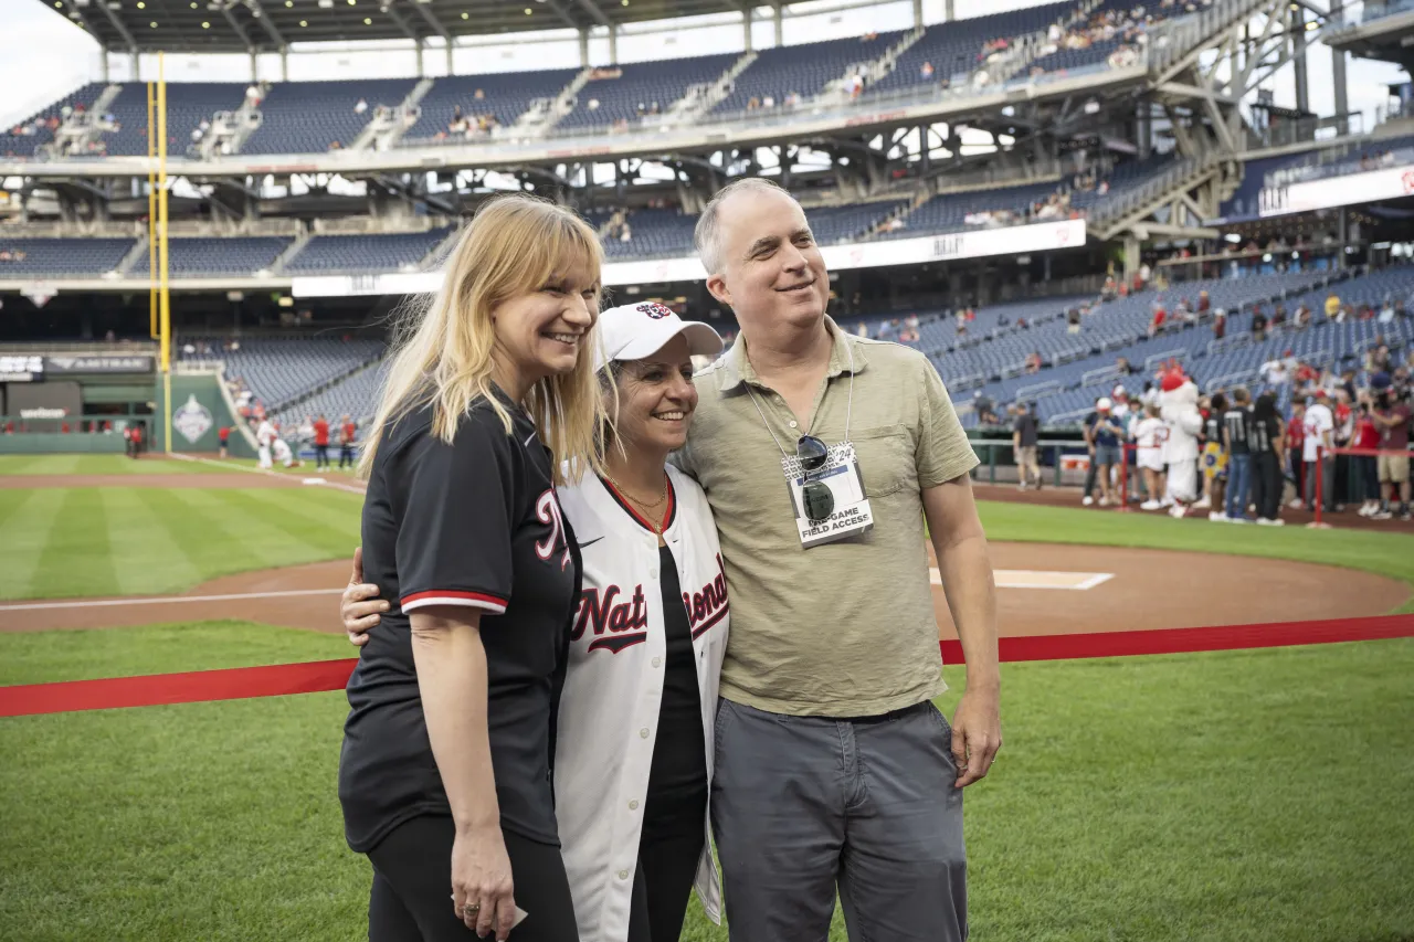
[[[369,942],[482,942],[451,901],[454,836],[451,818],[423,815],[395,827],[369,851]],[[510,942],[578,942],[560,849],[509,830],[503,836],[516,905],[529,914],[510,931]]]

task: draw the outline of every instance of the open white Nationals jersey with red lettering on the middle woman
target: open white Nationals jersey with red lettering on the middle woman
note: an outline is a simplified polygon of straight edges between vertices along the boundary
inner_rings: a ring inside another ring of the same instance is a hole
[[[710,779],[730,621],[727,577],[701,487],[677,468],[667,475],[663,540],[677,562],[697,655]],[[560,697],[554,813],[580,942],[624,942],[667,665],[658,536],[592,474],[559,495],[584,556],[584,583]],[[721,888],[707,827],[704,818],[696,885],[718,922]]]

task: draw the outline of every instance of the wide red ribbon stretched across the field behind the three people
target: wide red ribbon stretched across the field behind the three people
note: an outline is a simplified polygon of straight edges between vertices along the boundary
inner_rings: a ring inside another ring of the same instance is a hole
[[[1124,658],[1411,636],[1414,636],[1414,615],[1381,615],[1219,628],[1003,638],[1001,659],[1019,662]],[[945,662],[959,663],[963,661],[959,642],[943,641],[940,645]],[[341,690],[355,663],[358,663],[356,659],[312,661],[269,668],[235,668],[0,687],[0,717]]]

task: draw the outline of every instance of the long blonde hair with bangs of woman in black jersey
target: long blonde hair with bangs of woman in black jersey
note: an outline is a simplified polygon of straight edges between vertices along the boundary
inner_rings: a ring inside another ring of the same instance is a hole
[[[581,264],[592,277],[598,310],[602,262],[594,229],[570,209],[526,195],[488,202],[448,256],[441,290],[430,301],[410,307],[400,320],[359,475],[369,475],[387,429],[427,403],[433,405],[433,434],[443,441],[452,440],[457,423],[481,399],[491,403],[510,434],[510,413],[492,395],[492,311]],[[591,331],[574,369],[536,382],[525,397],[539,437],[553,455],[556,484],[566,484],[566,465],[570,477],[577,477],[602,464],[595,447],[604,420],[594,375],[595,342]]]

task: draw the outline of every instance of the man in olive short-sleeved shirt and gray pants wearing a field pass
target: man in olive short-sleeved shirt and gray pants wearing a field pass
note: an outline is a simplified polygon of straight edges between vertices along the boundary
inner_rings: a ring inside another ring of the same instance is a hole
[[[789,194],[727,187],[697,249],[741,324],[696,379],[677,455],[711,502],[731,598],[711,813],[732,942],[824,939],[836,890],[851,939],[960,941],[962,788],[1001,745],[977,458],[921,354],[826,317],[829,273]],[[853,443],[871,529],[805,547],[805,436]],[[946,687],[925,519],[967,659],[952,727],[930,703]]]

